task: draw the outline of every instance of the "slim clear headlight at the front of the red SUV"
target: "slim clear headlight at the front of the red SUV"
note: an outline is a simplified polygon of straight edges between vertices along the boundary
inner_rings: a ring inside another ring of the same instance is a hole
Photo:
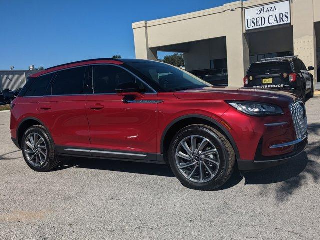
[[[251,116],[270,116],[283,114],[281,107],[253,101],[228,101],[231,106]]]

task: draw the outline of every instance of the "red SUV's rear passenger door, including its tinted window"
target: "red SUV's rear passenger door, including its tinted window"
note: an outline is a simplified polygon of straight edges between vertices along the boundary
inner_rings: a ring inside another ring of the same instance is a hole
[[[59,153],[90,155],[86,69],[81,66],[56,72],[46,95],[39,100],[39,117],[45,121]]]

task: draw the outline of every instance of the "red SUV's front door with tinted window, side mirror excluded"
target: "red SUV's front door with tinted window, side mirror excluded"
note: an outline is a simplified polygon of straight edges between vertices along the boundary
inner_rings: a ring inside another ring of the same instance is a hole
[[[121,66],[93,65],[86,112],[91,154],[107,158],[156,160],[157,93]],[[136,82],[145,93],[125,97],[115,88]]]

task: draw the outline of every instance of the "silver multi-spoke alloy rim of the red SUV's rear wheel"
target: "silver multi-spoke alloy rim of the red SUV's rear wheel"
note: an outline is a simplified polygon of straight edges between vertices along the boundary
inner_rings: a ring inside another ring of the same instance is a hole
[[[43,165],[47,157],[47,147],[43,137],[38,133],[30,133],[24,141],[24,153],[33,166]]]

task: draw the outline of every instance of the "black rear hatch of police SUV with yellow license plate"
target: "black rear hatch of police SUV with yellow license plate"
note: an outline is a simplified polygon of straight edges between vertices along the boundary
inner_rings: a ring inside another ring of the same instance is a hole
[[[253,63],[246,75],[248,84],[244,86],[287,90],[290,86],[290,73],[292,69],[287,60]]]

